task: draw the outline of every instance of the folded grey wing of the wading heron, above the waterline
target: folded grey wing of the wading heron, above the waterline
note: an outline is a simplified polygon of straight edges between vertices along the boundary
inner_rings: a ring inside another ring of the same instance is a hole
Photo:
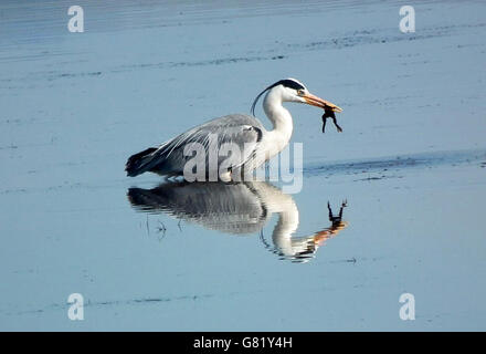
[[[221,157],[219,164],[226,159],[231,168],[245,164],[255,153],[256,146],[262,139],[265,128],[253,116],[243,114],[231,114],[212,119],[200,126],[193,127],[186,133],[163,143],[154,153],[147,156],[142,169],[151,170],[162,175],[180,175],[183,171],[186,162],[191,156],[184,156],[183,149],[187,144],[201,144],[207,155],[210,148],[211,134],[215,137],[218,148],[223,144],[235,144],[242,153],[241,156]]]

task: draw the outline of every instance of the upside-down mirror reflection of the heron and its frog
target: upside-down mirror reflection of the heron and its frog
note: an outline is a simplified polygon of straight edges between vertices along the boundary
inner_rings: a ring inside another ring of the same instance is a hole
[[[152,189],[130,188],[128,199],[137,210],[165,212],[207,229],[232,235],[260,232],[265,248],[282,259],[296,262],[314,258],[327,239],[348,225],[342,220],[346,201],[336,216],[328,204],[329,227],[309,236],[295,236],[299,212],[294,199],[265,181],[166,181]],[[278,215],[278,220],[272,241],[267,241],[263,228],[274,214]]]

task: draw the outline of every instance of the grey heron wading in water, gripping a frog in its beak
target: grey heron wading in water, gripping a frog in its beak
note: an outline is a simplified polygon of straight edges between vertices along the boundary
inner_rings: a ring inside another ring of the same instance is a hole
[[[255,105],[265,93],[263,110],[273,125],[271,131],[265,129],[254,116]],[[337,105],[310,94],[299,81],[281,80],[256,96],[251,110],[253,115],[231,114],[196,126],[158,147],[150,147],[130,156],[125,170],[130,177],[146,171],[169,177],[183,176],[184,166],[191,158],[184,152],[184,147],[196,143],[200,144],[205,153],[204,167],[208,174],[215,175],[220,180],[234,180],[235,175],[254,170],[288,144],[293,121],[290,113],[283,106],[284,102],[305,103],[331,112],[342,111]],[[215,144],[210,144],[212,137]],[[218,150],[225,145],[236,147],[240,153],[233,154],[232,150],[229,157],[218,152],[212,155],[212,148]],[[215,156],[213,164],[210,162],[211,156]]]

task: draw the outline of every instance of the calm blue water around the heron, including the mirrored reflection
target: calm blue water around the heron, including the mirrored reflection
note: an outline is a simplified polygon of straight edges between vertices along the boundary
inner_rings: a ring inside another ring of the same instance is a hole
[[[484,2],[71,4],[0,3],[1,330],[485,330]],[[125,177],[287,76],[300,192]]]

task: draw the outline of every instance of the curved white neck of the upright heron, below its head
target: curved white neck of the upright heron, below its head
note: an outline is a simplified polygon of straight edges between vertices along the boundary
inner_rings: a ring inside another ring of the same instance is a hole
[[[276,92],[268,92],[263,101],[263,110],[272,122],[273,132],[287,143],[292,136],[293,122],[290,112],[282,105],[282,96]]]

